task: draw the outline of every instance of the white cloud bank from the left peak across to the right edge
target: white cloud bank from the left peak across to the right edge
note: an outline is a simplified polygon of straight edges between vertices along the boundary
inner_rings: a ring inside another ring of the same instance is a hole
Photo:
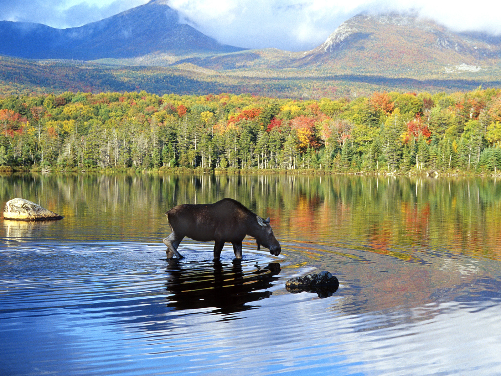
[[[220,42],[249,48],[302,51],[323,43],[343,21],[363,12],[413,9],[456,31],[501,33],[501,5],[432,0],[171,0],[170,6]],[[486,11],[488,10],[488,12]]]

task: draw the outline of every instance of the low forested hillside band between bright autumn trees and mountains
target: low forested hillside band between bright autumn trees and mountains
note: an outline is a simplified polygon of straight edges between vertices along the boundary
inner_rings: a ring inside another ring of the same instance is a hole
[[[173,67],[116,67],[70,61],[33,61],[0,56],[0,96],[71,92],[144,90],[175,93],[252,93],[268,97],[332,99],[371,95],[375,91],[454,92],[479,85],[500,87],[499,75],[468,77],[385,77],[334,75],[323,70],[253,68],[218,72],[190,63]]]

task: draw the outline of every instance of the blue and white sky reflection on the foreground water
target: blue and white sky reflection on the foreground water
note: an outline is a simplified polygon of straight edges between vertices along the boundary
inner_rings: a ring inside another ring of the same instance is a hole
[[[214,314],[169,306],[169,276],[152,267],[160,247],[112,249],[117,269],[106,276],[95,268],[100,252],[78,252],[79,245],[34,247],[38,258],[9,248],[4,261],[30,256],[43,265],[59,252],[70,264],[66,272],[28,268],[25,276],[3,267],[2,374],[501,373],[498,298],[346,314],[349,295],[289,294],[280,280],[270,298],[247,303],[254,309]],[[72,265],[75,255],[92,270]],[[134,258],[135,269],[122,264]]]

